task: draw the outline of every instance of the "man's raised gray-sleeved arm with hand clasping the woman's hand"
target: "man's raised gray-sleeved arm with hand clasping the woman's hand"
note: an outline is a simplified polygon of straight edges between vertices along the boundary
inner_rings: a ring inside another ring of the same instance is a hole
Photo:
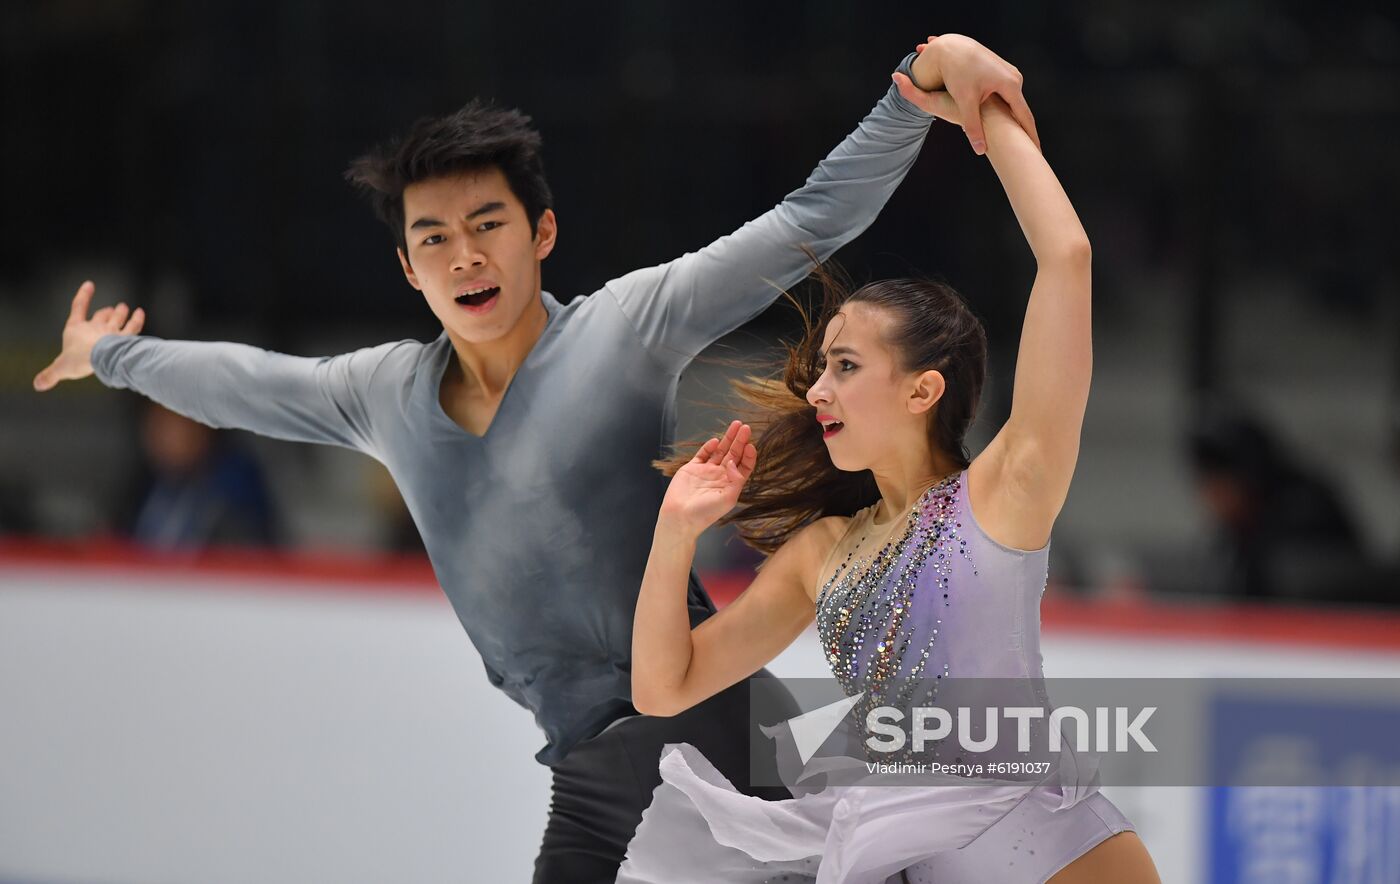
[[[973,101],[991,90],[1014,92],[1012,106],[1025,104],[1019,71],[959,35],[910,53],[893,78],[855,130],[774,209],[697,252],[605,286],[669,367],[679,370],[806,276],[802,247],[825,261],[869,227],[913,167],[934,119],[903,92],[945,87]]]

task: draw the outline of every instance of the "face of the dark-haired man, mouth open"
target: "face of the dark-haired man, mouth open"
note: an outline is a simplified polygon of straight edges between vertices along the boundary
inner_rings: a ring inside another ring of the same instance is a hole
[[[525,206],[496,167],[433,178],[403,191],[409,284],[455,338],[496,340],[539,305],[539,262],[554,248],[549,209],[531,235]]]

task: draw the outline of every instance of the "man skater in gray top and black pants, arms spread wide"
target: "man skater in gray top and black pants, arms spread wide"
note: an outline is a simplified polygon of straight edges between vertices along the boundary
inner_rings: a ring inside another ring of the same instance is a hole
[[[958,35],[904,59],[896,84],[808,182],[711,245],[560,304],[540,287],[559,223],[528,118],[472,102],[351,164],[442,324],[326,359],[139,336],[140,310],[88,318],[73,298],[63,350],[36,389],[98,378],[214,427],[339,444],[382,461],[491,684],[547,740],[553,799],[535,880],[612,881],[659,783],[662,744],[690,743],[748,785],[748,702],[727,691],[686,714],[630,702],[631,621],[666,488],[682,368],[762,312],[875,219],[932,119],[906,99],[946,87],[965,119],[1021,76]],[[913,78],[913,81],[910,80]],[[967,126],[974,150],[980,123]],[[714,611],[692,574],[690,611]],[[764,796],[783,797],[783,796]]]

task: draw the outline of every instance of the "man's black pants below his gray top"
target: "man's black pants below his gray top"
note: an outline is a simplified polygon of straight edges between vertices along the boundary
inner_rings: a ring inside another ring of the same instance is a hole
[[[767,670],[756,678],[770,677]],[[798,714],[797,705],[774,717]],[[745,794],[774,801],[792,797],[783,787],[749,786],[749,685],[741,681],[669,719],[638,716],[580,743],[552,768],[553,796],[545,841],[535,859],[533,884],[612,884],[627,842],[661,783],[661,748],[689,743]],[[762,744],[760,744],[762,745]],[[703,838],[704,832],[697,832]]]

